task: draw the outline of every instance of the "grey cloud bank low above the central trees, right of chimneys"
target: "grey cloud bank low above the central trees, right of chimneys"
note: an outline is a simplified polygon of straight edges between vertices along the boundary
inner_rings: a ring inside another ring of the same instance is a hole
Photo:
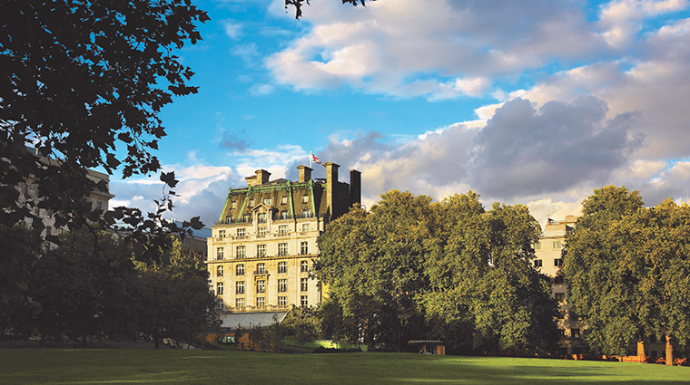
[[[363,193],[374,200],[391,188],[436,199],[472,189],[510,203],[549,195],[572,203],[609,183],[644,143],[629,132],[637,114],[607,119],[606,112],[594,97],[541,107],[516,99],[481,126],[458,123],[394,145],[377,132],[332,138],[318,156],[360,169]]]

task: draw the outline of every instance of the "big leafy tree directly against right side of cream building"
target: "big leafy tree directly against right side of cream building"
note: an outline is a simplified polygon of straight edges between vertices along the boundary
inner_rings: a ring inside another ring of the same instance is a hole
[[[426,285],[429,203],[429,197],[392,190],[370,214],[353,208],[319,238],[317,275],[328,286],[331,305],[341,306],[344,320],[354,322],[340,330],[363,333],[370,347],[382,343],[399,350],[423,327],[415,294]]]

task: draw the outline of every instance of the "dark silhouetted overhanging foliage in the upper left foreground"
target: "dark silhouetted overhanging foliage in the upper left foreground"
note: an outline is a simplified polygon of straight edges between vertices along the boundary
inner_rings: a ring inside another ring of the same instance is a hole
[[[85,168],[123,164],[125,178],[158,171],[158,113],[173,94],[196,91],[174,50],[200,40],[196,24],[208,19],[189,0],[0,2],[0,223],[36,217],[40,207],[57,227],[79,226],[98,219],[80,197],[105,188]],[[162,179],[173,184],[172,174]],[[41,197],[19,205],[15,187],[28,180]],[[104,222],[115,218],[144,221],[121,208]],[[41,221],[33,225],[40,233]]]

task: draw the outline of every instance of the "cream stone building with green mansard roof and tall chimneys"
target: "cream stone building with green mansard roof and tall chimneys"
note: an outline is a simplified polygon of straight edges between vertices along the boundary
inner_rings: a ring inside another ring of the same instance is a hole
[[[361,196],[359,171],[350,170],[347,184],[338,181],[339,165],[324,166],[325,180],[312,179],[306,166],[298,167],[294,182],[270,181],[271,174],[260,169],[246,178],[247,187],[229,190],[205,261],[221,313],[287,312],[320,304],[323,292],[313,274],[316,240]]]

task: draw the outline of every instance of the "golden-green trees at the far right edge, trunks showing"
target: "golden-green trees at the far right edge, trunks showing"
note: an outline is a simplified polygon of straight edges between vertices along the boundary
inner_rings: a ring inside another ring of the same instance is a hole
[[[589,349],[624,354],[646,336],[674,345],[690,337],[690,207],[667,198],[643,207],[639,191],[608,186],[583,203],[567,236],[563,274],[569,305],[589,324]]]

